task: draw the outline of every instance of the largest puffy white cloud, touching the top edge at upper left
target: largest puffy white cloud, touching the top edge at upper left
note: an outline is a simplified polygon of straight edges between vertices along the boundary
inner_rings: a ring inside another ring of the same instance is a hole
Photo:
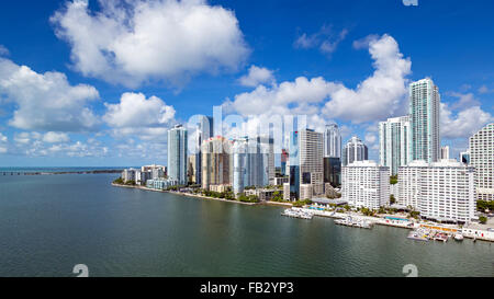
[[[52,16],[85,76],[138,87],[236,69],[249,53],[233,11],[205,0],[74,0]]]

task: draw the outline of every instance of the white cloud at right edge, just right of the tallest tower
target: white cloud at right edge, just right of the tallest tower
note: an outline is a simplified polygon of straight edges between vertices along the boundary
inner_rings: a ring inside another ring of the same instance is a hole
[[[441,138],[456,139],[472,136],[487,123],[494,122],[494,117],[480,106],[453,113],[448,104],[441,103],[440,122]]]

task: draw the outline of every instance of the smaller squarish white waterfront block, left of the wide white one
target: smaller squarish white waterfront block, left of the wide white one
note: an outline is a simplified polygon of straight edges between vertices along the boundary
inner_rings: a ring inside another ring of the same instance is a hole
[[[356,161],[343,168],[341,197],[351,207],[379,209],[390,204],[390,168]]]

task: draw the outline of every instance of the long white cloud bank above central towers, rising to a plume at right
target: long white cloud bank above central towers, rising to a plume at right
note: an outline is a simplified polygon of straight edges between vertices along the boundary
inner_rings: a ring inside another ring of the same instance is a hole
[[[300,77],[293,82],[258,85],[226,101],[224,107],[244,116],[305,114],[322,123],[329,118],[355,124],[385,119],[404,106],[412,62],[403,58],[396,41],[389,35],[369,41],[369,53],[375,70],[356,89],[321,77]]]

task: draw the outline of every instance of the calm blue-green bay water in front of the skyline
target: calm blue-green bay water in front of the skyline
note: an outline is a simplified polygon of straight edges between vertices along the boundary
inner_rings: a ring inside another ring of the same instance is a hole
[[[115,174],[0,176],[0,276],[494,276],[487,242],[416,242],[244,206],[112,187]]]

